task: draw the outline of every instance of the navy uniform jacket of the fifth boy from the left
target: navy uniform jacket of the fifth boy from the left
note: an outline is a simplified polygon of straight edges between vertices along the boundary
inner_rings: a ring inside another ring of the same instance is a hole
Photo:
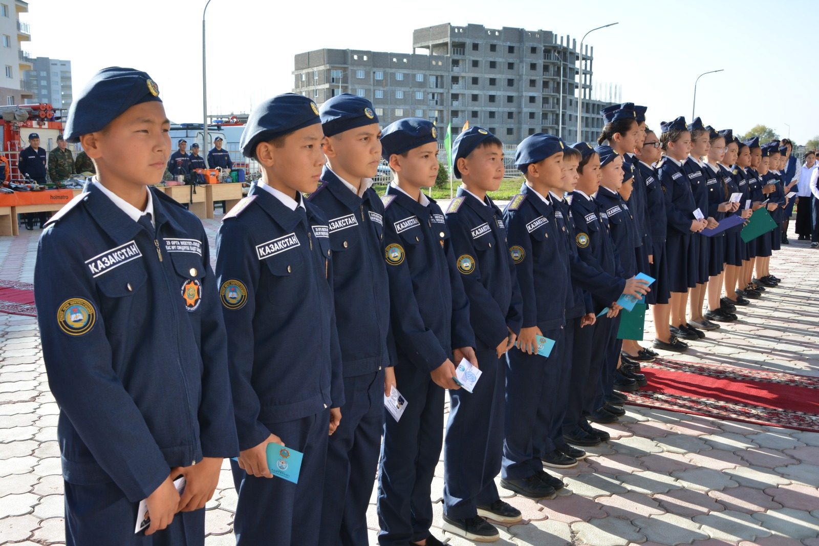
[[[459,188],[446,209],[446,224],[469,298],[469,323],[477,339],[495,348],[509,337],[509,330],[520,334],[523,300],[506,244],[503,214],[488,196],[486,202]]]

